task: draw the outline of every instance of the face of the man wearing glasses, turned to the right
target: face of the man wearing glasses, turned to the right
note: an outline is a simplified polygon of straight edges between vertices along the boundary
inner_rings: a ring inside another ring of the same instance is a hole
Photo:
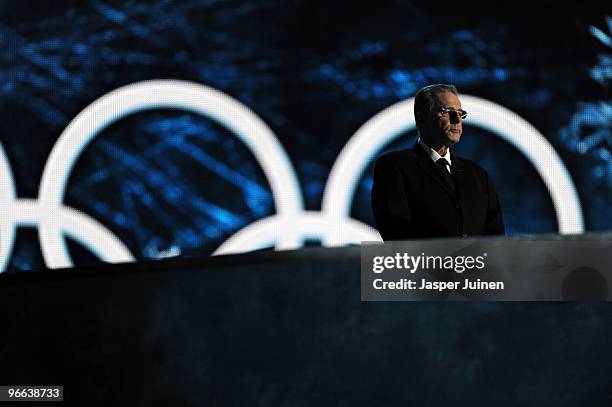
[[[450,147],[461,139],[462,119],[457,113],[461,110],[461,102],[457,95],[451,92],[441,92],[435,96],[438,98],[439,106],[452,110],[444,112],[438,109],[431,112],[424,123],[425,129],[419,130],[427,134],[429,142],[433,144],[432,147],[442,145]]]

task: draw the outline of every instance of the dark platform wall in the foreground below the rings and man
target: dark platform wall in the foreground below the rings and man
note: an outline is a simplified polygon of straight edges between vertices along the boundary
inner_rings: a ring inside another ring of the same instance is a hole
[[[612,303],[364,303],[359,259],[0,276],[0,384],[81,406],[612,405]]]

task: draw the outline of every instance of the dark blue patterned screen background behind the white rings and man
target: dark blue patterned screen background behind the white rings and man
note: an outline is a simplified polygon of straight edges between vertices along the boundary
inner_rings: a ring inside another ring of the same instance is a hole
[[[528,9],[399,0],[4,3],[0,139],[18,195],[33,198],[57,137],[89,103],[145,79],[204,83],[272,128],[296,167],[306,208],[318,210],[329,169],[364,122],[423,85],[452,82],[544,134],[570,170],[586,229],[609,230],[605,15],[603,7],[578,2]],[[552,202],[531,164],[469,121],[465,127],[455,151],[492,175],[508,232],[556,231]],[[352,216],[373,225],[370,187],[371,164]],[[79,159],[65,202],[100,220],[139,259],[172,247],[209,255],[274,212],[263,172],[234,135],[169,110],[104,130]],[[76,264],[94,261],[76,244],[70,249]],[[36,231],[20,229],[10,268],[43,264]]]

